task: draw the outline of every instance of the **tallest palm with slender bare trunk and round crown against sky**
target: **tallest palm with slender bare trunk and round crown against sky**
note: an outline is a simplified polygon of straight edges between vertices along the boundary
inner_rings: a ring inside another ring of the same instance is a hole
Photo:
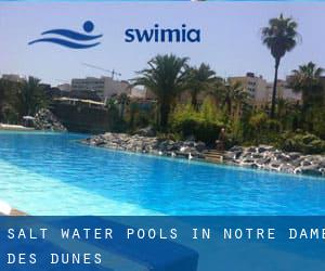
[[[298,39],[297,27],[298,24],[292,18],[286,18],[283,14],[281,14],[280,17],[271,18],[269,21],[269,26],[262,28],[262,42],[271,50],[271,54],[275,60],[271,106],[272,118],[274,117],[275,112],[276,83],[280,62],[286,52],[291,51],[296,47]]]

